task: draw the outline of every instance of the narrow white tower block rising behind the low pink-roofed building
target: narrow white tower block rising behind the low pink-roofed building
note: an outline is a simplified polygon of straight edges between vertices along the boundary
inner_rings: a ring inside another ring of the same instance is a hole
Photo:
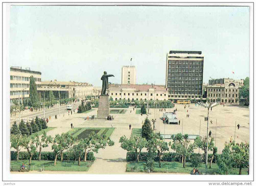
[[[122,66],[122,84],[136,84],[135,66]]]

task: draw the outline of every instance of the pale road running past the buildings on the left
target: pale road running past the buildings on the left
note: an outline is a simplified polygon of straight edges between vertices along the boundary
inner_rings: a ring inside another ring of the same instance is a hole
[[[73,108],[77,108],[78,107],[78,103],[73,105]],[[75,111],[77,112],[77,110]],[[63,105],[61,106],[61,115],[63,115],[64,113],[68,113],[67,111],[67,105]],[[55,115],[60,115],[60,107],[56,106],[50,109],[46,109],[45,110],[45,117],[53,117]],[[34,110],[33,112],[30,111],[25,111],[23,114],[21,114],[21,119],[25,119],[25,120],[29,120],[32,118],[35,118],[36,116],[38,117],[44,117],[44,110],[40,110],[40,111],[36,111]],[[13,122],[16,121],[17,123],[19,123],[19,113],[16,113],[16,116],[11,117],[11,125],[13,124]]]

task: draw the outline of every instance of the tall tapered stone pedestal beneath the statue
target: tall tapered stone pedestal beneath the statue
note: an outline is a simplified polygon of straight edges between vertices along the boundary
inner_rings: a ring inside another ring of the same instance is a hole
[[[108,95],[100,95],[98,103],[98,119],[105,119],[106,116],[110,115],[110,102]]]

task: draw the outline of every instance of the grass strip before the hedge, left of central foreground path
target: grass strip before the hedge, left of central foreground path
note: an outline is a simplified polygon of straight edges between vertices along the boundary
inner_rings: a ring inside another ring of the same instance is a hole
[[[28,167],[28,160],[11,161],[11,166],[14,169],[19,169],[22,163],[25,163],[25,166]],[[45,171],[88,171],[93,162],[81,161],[81,166],[77,165],[77,161],[57,161],[56,166],[53,164],[54,161],[42,160],[39,162],[37,160],[32,160],[30,170],[39,171],[41,168],[44,168]]]

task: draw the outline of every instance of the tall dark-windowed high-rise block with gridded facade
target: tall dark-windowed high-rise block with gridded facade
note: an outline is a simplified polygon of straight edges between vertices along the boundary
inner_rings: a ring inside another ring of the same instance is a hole
[[[201,51],[171,50],[166,58],[166,88],[169,99],[203,98],[204,56]]]

